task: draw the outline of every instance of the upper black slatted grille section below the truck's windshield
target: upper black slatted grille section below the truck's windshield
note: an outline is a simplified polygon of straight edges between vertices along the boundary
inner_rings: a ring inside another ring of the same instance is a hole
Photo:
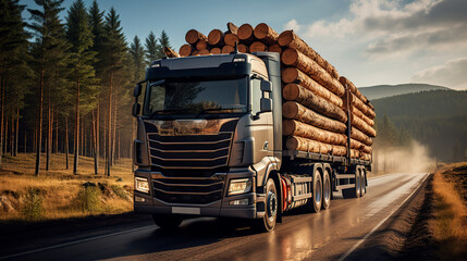
[[[216,169],[225,166],[233,132],[216,135],[162,136],[148,134],[151,164],[161,169]]]

